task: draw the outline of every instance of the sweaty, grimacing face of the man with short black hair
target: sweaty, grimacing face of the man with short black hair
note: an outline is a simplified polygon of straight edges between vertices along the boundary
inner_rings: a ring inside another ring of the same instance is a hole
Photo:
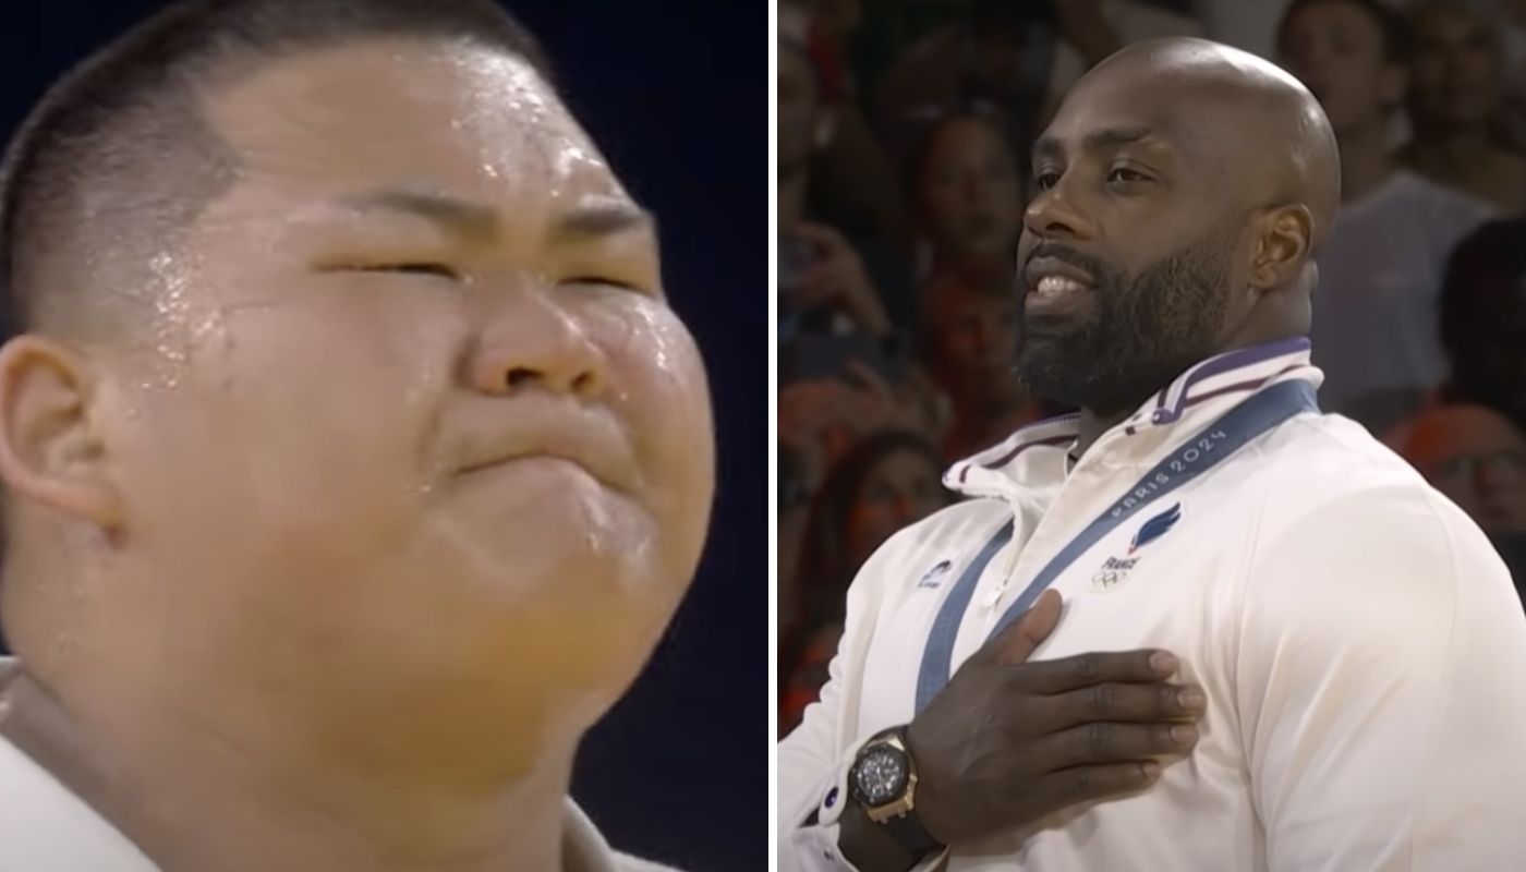
[[[684,594],[714,487],[653,226],[494,50],[310,52],[206,111],[241,179],[156,264],[157,342],[104,385],[163,655],[343,735],[398,706],[586,725]]]

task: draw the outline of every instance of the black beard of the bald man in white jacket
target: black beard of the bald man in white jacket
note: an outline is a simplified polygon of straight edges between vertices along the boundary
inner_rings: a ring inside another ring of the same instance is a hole
[[[1096,308],[1077,322],[1029,318],[1019,304],[1018,377],[1039,397],[1100,417],[1137,409],[1216,351],[1233,246],[1225,231],[1210,232],[1132,276],[1067,247],[1036,246],[1030,258],[1053,257],[1096,279],[1087,292]],[[1021,292],[1025,283],[1018,286]]]

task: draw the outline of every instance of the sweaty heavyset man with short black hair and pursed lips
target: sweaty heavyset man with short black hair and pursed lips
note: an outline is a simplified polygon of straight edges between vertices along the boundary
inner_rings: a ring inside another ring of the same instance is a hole
[[[0,194],[0,869],[652,869],[568,790],[693,577],[708,392],[534,40],[177,3]]]

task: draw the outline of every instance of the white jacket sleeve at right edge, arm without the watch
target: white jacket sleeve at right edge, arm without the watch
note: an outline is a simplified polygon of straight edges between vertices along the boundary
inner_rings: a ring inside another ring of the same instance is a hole
[[[1251,551],[1233,677],[1271,872],[1526,857],[1526,615],[1460,510],[1337,498]]]

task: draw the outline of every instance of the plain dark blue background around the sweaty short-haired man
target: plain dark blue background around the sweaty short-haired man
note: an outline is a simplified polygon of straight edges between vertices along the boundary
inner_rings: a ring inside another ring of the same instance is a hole
[[[427,2],[427,0],[420,0]],[[9,0],[0,124],[162,3]],[[768,6],[537,0],[574,111],[662,223],[668,293],[710,365],[716,521],[694,589],[589,736],[574,794],[617,846],[694,872],[768,867]]]

